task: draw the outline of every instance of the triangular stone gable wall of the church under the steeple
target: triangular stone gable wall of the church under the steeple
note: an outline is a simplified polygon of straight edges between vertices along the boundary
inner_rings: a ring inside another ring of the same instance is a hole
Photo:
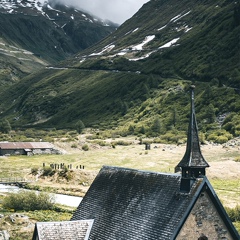
[[[232,240],[207,192],[193,207],[176,240]]]

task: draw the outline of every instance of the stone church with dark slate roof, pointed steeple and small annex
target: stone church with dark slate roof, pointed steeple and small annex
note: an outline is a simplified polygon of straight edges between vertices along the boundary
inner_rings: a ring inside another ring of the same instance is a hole
[[[176,173],[103,166],[71,220],[36,223],[32,239],[240,239],[206,176],[190,89],[187,147]]]

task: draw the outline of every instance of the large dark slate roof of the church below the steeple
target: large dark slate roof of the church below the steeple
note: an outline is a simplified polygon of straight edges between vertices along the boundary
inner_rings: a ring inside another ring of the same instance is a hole
[[[181,176],[105,166],[72,220],[94,219],[89,239],[172,239],[202,179],[189,194]]]

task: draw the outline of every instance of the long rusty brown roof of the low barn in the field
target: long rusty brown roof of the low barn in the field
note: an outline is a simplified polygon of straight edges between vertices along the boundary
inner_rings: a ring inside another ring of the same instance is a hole
[[[52,149],[49,142],[0,142],[0,149]]]

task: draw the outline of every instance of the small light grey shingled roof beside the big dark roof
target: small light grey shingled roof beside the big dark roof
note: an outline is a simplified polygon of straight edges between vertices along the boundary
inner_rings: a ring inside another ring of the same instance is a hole
[[[38,222],[33,240],[87,240],[94,220]]]

